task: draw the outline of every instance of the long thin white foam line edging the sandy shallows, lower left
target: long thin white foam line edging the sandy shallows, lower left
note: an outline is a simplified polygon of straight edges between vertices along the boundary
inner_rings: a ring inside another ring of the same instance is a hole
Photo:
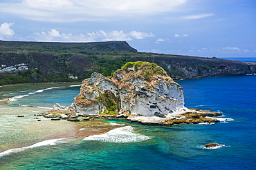
[[[64,139],[67,139],[67,138],[60,138],[60,139],[51,139],[51,140],[44,140],[42,142],[38,142],[38,143],[35,143],[34,145],[30,145],[28,147],[21,147],[21,148],[15,148],[15,149],[9,149],[7,151],[3,151],[0,153],[0,157],[2,156],[8,156],[12,153],[18,153],[20,151],[24,151],[26,149],[30,149],[30,148],[34,148],[34,147],[42,147],[42,146],[47,146],[47,145],[56,145],[57,141],[58,140],[64,140]]]

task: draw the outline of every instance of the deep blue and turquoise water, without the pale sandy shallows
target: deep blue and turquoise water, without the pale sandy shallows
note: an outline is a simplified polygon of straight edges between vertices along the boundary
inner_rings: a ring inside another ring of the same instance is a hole
[[[33,147],[0,157],[0,169],[256,169],[256,76],[177,82],[183,87],[186,107],[221,111],[223,118],[232,118],[232,121],[161,127],[123,119],[106,120],[127,123],[134,128],[133,134],[150,139],[128,142],[130,137],[123,134],[111,138],[127,142],[60,140],[56,145]],[[28,102],[48,107],[53,101],[70,103],[79,88],[46,90],[17,100],[15,104]],[[203,145],[210,142],[225,146],[203,149]]]

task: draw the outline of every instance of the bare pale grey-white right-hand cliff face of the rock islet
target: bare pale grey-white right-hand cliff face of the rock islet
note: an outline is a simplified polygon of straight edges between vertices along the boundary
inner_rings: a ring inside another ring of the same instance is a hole
[[[183,89],[171,79],[163,81],[159,78],[154,87],[146,81],[135,81],[134,92],[122,89],[120,99],[122,101],[120,112],[129,110],[131,114],[142,116],[168,116],[181,114],[187,109],[184,107]]]

